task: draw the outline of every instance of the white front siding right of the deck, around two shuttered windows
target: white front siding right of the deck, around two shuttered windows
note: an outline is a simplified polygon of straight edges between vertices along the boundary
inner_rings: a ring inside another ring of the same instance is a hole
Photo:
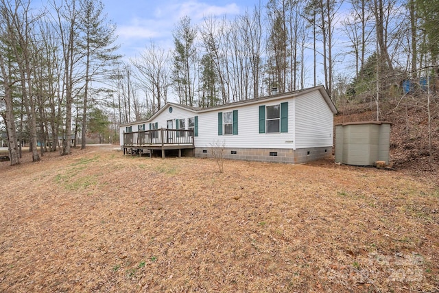
[[[259,133],[259,106],[272,106],[281,102],[288,102],[288,132]],[[218,135],[218,113],[233,110],[238,110],[238,134]],[[294,149],[294,99],[262,101],[200,113],[195,148],[209,148],[215,143],[224,143],[226,148]]]

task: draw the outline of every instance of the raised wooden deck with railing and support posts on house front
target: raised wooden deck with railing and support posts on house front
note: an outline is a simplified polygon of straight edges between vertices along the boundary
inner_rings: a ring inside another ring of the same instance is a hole
[[[165,150],[193,149],[193,130],[178,130],[160,128],[156,130],[139,130],[136,132],[123,133],[123,154],[139,154],[153,150],[161,150],[162,158],[165,158]]]

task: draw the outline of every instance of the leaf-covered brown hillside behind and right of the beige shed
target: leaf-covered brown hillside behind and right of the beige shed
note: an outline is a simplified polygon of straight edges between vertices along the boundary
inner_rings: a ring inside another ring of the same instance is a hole
[[[439,99],[431,99],[431,149],[429,156],[427,98],[405,96],[381,104],[381,121],[392,122],[390,161],[394,168],[418,176],[439,175]],[[347,102],[337,106],[335,124],[375,121],[375,102]]]

